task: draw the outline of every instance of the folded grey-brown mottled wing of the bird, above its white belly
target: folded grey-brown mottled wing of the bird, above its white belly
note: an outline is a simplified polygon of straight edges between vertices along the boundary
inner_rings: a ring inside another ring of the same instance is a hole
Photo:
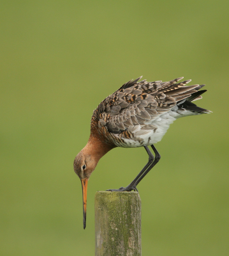
[[[121,133],[129,127],[133,129],[135,125],[144,125],[149,120],[154,120],[170,111],[177,102],[197,92],[199,86],[198,84],[185,86],[191,80],[177,83],[183,77],[163,83],[145,80],[138,82],[140,78],[142,77],[123,84],[95,109],[98,122],[101,126],[107,127],[109,132]]]

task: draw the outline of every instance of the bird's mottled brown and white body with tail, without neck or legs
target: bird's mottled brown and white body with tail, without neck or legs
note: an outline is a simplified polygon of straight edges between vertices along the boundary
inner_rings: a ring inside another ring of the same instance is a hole
[[[91,133],[116,147],[142,147],[161,140],[176,118],[209,113],[191,101],[201,99],[203,85],[129,81],[103,100],[94,110]]]

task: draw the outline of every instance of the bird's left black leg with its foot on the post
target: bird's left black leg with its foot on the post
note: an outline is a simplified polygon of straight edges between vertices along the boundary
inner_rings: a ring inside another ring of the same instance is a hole
[[[154,156],[153,156],[151,150],[149,150],[149,148],[147,146],[144,146],[144,148],[149,156],[149,161],[147,164],[145,164],[142,171],[140,173],[138,173],[137,177],[135,177],[135,179],[126,188],[121,187],[119,189],[107,189],[107,191],[131,191],[131,190],[138,191],[138,189],[136,188],[137,184],[140,182],[140,180],[138,182],[138,179],[141,177],[142,174],[144,174],[144,172],[147,172],[147,168],[149,168],[154,161]],[[138,183],[136,184],[136,182],[138,182]]]

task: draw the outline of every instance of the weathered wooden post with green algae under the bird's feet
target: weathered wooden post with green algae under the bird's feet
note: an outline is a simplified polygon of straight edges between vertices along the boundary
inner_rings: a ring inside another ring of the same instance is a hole
[[[95,195],[96,256],[141,256],[141,199],[138,192]]]

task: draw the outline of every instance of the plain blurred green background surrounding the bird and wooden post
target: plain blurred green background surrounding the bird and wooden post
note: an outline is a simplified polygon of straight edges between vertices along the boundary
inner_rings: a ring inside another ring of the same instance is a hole
[[[126,186],[143,148],[115,148],[89,180],[73,159],[92,111],[123,83],[207,84],[211,115],[177,120],[140,182],[142,255],[228,255],[228,1],[1,1],[0,255],[94,255],[94,194]]]

